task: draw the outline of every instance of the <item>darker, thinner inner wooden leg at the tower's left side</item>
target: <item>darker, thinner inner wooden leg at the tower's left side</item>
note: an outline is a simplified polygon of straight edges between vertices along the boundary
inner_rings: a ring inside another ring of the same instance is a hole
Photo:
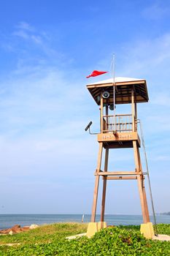
[[[108,158],[109,158],[109,148],[106,148],[105,159],[104,159],[104,171],[107,172],[108,169]],[[105,210],[105,201],[106,201],[106,191],[107,191],[107,178],[104,177],[103,182],[103,194],[101,201],[101,222],[104,222],[104,210]]]

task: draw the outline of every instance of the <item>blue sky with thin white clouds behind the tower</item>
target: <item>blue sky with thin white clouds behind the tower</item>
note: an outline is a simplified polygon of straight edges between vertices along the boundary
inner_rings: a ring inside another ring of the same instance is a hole
[[[90,213],[98,143],[84,128],[99,113],[85,77],[112,53],[116,76],[147,80],[155,211],[170,211],[169,1],[7,0],[0,24],[0,214]],[[109,168],[134,168],[133,151],[112,151]],[[135,181],[108,183],[106,213],[141,214]]]

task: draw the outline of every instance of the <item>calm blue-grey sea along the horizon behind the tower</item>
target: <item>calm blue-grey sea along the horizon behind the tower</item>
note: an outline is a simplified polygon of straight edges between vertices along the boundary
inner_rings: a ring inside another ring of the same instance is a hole
[[[0,214],[0,230],[12,227],[14,225],[29,226],[31,224],[45,225],[58,222],[90,222],[90,214]],[[106,214],[107,225],[140,225],[142,223],[141,215],[117,215]],[[154,223],[153,217],[150,217]],[[96,215],[96,222],[100,221],[100,215]],[[156,215],[157,223],[170,224],[170,215]]]

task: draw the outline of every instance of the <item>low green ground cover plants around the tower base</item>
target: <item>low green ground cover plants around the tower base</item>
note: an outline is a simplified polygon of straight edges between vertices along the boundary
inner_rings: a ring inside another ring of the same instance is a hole
[[[66,236],[85,233],[87,225],[61,223],[46,225],[12,236],[0,236],[0,255],[12,256],[107,256],[107,255],[170,255],[170,242],[145,239],[139,226],[108,227],[93,238]],[[158,233],[170,235],[170,225],[158,225]],[[7,246],[6,244],[15,244]]]

